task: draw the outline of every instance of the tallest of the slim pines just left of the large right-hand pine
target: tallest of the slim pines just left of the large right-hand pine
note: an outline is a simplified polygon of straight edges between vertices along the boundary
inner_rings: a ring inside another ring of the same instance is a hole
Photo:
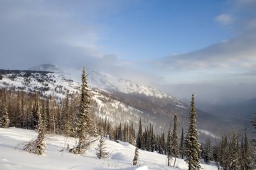
[[[176,158],[179,155],[179,139],[178,139],[178,130],[177,130],[177,115],[174,115],[174,125],[173,125],[173,131],[172,131],[172,157],[175,157],[173,167],[176,163]]]

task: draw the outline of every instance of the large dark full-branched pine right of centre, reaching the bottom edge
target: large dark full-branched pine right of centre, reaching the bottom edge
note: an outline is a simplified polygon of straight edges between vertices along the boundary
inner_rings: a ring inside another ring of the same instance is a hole
[[[185,138],[185,152],[187,156],[185,161],[189,164],[189,170],[199,170],[201,168],[196,116],[195,98],[194,94],[192,94],[191,110],[189,113],[189,129],[187,130],[187,136]]]

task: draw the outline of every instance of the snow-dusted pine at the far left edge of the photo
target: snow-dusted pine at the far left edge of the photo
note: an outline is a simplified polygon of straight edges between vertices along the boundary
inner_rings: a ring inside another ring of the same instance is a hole
[[[0,127],[1,128],[8,128],[9,127],[9,116],[7,112],[7,104],[6,104],[6,95],[3,95],[2,99],[2,106],[0,110]]]

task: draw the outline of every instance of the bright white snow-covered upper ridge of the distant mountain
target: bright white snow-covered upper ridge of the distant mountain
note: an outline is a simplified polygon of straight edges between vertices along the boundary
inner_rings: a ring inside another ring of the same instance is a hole
[[[32,67],[30,70],[35,71],[53,71],[55,73],[59,73],[68,79],[72,79],[76,82],[80,82],[80,75],[82,70],[79,69],[71,69],[65,68],[61,69],[55,65],[46,64],[39,65],[37,67]],[[96,71],[95,69],[86,69],[86,73],[88,74],[88,83],[92,87],[96,87],[98,89],[102,89],[104,91],[112,92],[119,91],[122,93],[139,93],[147,96],[154,97],[170,97],[170,95],[156,89],[155,87],[148,87],[146,85],[141,85],[139,83],[135,83],[133,81],[119,79],[112,75],[108,75],[107,73],[103,73],[100,71]]]

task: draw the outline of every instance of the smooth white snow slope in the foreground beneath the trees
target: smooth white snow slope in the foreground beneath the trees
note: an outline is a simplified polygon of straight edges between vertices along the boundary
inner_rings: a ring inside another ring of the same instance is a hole
[[[74,138],[63,136],[47,136],[45,155],[34,155],[22,151],[22,142],[36,138],[34,130],[18,128],[0,128],[0,169],[187,169],[187,164],[182,159],[177,159],[177,167],[166,166],[166,156],[158,153],[139,151],[139,167],[132,166],[135,146],[126,142],[113,142],[106,140],[106,149],[110,153],[107,159],[96,158],[96,143],[85,155],[73,155],[67,151],[61,152],[65,144],[73,146]],[[205,170],[216,170],[214,165],[202,165]]]

